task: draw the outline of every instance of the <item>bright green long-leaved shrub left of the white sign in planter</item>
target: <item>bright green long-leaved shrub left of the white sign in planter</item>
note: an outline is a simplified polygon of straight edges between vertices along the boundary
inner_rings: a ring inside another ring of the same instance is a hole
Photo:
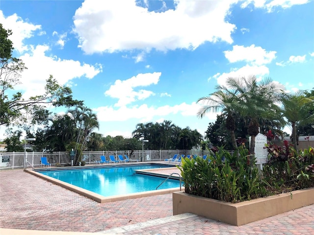
[[[183,159],[181,175],[185,192],[226,202],[240,202],[266,195],[255,163],[248,150],[240,147],[231,155],[223,147],[202,158]]]

